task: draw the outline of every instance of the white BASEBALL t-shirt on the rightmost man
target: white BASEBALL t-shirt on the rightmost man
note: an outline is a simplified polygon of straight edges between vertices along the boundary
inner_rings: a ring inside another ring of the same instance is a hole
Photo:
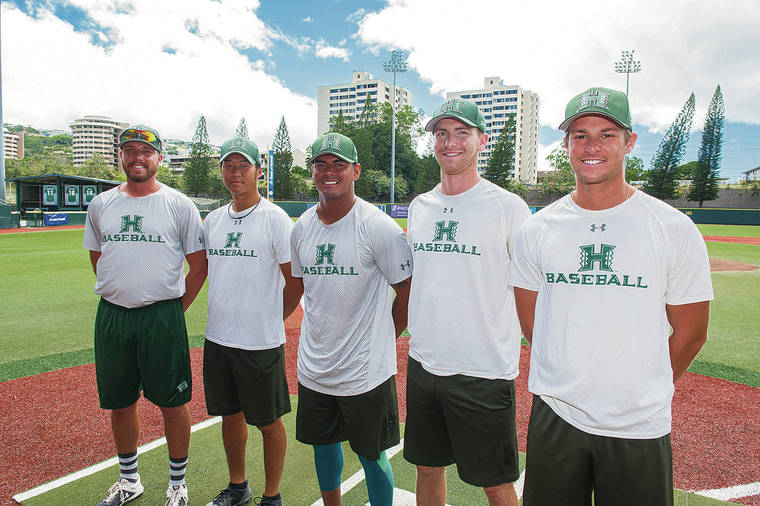
[[[587,433],[670,432],[665,304],[713,298],[707,249],[686,215],[640,191],[602,211],[564,197],[525,223],[509,282],[538,291],[531,392]]]

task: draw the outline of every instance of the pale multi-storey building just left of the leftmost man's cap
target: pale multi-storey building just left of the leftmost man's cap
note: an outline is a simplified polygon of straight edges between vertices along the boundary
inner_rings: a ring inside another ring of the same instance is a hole
[[[85,116],[74,120],[71,127],[71,151],[74,166],[100,153],[113,167],[119,166],[119,134],[129,123],[114,121],[105,116]]]

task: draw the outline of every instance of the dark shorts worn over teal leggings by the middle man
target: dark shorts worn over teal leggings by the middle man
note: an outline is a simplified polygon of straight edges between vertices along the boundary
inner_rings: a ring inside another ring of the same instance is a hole
[[[358,455],[377,460],[400,439],[396,377],[359,395],[327,395],[298,384],[296,439],[310,445],[348,440]]]

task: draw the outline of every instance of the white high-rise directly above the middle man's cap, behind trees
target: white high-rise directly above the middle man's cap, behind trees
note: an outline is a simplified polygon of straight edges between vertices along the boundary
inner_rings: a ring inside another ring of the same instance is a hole
[[[346,119],[361,116],[368,96],[373,103],[391,103],[393,85],[373,78],[369,72],[360,71],[352,74],[351,83],[320,86],[317,91],[317,135],[330,130],[330,118],[337,116],[341,110]],[[405,105],[412,105],[412,92],[396,85],[396,107]]]

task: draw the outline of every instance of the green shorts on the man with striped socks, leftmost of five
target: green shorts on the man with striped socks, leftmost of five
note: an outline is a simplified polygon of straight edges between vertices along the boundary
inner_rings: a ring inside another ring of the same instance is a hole
[[[95,373],[103,409],[145,398],[160,407],[190,401],[192,376],[180,299],[125,308],[100,299],[95,316]]]

